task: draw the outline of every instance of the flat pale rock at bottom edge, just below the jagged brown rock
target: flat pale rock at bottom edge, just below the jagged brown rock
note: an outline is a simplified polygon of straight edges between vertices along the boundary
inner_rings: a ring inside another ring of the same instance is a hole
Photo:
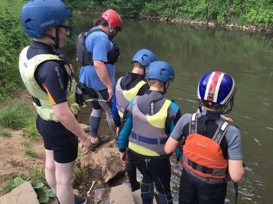
[[[134,204],[135,201],[128,185],[122,184],[112,188],[97,189],[94,192],[95,204]]]

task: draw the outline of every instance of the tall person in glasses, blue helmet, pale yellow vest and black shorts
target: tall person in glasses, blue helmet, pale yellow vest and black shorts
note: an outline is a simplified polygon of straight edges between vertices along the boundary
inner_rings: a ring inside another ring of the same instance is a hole
[[[80,107],[72,69],[56,52],[69,35],[70,16],[63,1],[28,1],[21,20],[33,41],[19,56],[19,71],[38,112],[36,125],[44,139],[45,178],[60,203],[65,204],[87,203],[86,198],[74,197],[72,185],[78,139],[85,152],[91,144],[76,120]]]

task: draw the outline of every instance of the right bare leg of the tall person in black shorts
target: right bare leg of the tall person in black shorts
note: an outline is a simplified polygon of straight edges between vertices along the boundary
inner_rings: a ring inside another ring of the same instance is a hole
[[[57,197],[61,204],[74,204],[73,180],[75,161],[69,163],[55,162]]]

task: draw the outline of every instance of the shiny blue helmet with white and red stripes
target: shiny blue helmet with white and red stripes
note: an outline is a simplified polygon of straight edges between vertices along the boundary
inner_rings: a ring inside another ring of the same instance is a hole
[[[197,88],[197,98],[226,105],[235,94],[235,82],[229,74],[213,71],[201,78]]]

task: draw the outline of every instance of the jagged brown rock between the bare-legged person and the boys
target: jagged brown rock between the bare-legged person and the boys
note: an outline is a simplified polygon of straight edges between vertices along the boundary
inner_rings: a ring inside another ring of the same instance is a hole
[[[99,151],[99,154],[101,155],[102,178],[104,178],[105,182],[126,171],[125,163],[119,159],[119,151],[117,148],[104,148]]]

